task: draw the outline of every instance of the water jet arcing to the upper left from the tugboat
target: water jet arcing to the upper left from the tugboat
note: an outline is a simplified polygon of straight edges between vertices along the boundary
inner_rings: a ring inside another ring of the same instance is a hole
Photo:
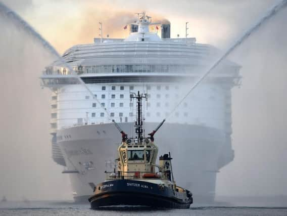
[[[92,99],[97,101],[97,103],[101,106],[101,108],[104,109],[104,111],[108,115],[108,118],[110,117],[110,114],[107,111],[107,109],[101,105],[101,102],[96,97],[94,97],[93,93],[87,87],[85,82],[78,76],[78,74],[73,70],[73,68],[66,63],[66,61],[60,56],[60,54],[55,50],[55,48],[47,40],[45,40],[31,25],[29,25],[25,20],[23,20],[17,13],[15,13],[13,10],[8,8],[6,5],[4,5],[1,2],[0,2],[0,13],[4,14],[6,17],[15,21],[17,24],[20,24],[21,28],[23,28],[26,32],[32,34],[46,50],[48,50],[53,56],[55,56],[57,60],[60,61],[60,63],[63,66],[68,68],[69,71],[71,71],[71,75],[77,78],[79,83],[82,84],[83,87],[87,90],[87,92],[91,95]]]

